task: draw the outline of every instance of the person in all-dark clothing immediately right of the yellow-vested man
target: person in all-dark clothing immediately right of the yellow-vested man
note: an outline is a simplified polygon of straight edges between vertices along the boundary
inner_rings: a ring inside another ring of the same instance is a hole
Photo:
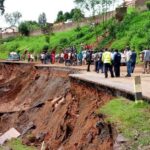
[[[121,54],[116,49],[114,55],[114,72],[116,77],[120,77],[120,66],[121,66]]]

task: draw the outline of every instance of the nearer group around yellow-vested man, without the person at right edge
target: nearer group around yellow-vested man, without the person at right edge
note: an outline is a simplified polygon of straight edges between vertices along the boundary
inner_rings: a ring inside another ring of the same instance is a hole
[[[87,53],[87,71],[90,71],[90,65],[92,62],[92,53],[93,51],[88,51]],[[131,77],[131,74],[134,72],[137,54],[135,51],[131,51],[130,48],[124,50],[124,55],[127,65],[127,75],[126,77]],[[108,77],[108,71],[110,72],[111,77],[120,77],[120,66],[121,66],[121,53],[116,50],[103,49],[99,53],[96,53],[95,56],[95,71],[105,74],[105,78]]]

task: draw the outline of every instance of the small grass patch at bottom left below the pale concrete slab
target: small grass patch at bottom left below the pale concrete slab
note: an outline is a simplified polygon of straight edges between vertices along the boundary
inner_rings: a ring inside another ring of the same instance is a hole
[[[23,145],[19,139],[13,139],[9,141],[6,146],[12,150],[36,150],[33,147]],[[0,150],[4,150],[3,147],[0,147]]]

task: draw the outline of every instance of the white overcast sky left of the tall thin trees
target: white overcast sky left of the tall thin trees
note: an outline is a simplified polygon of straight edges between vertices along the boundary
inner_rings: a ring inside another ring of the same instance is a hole
[[[56,19],[58,11],[70,11],[75,7],[74,0],[5,0],[5,12],[19,11],[23,20],[38,20],[40,13],[45,12],[48,22]],[[0,17],[0,26],[6,26]]]

